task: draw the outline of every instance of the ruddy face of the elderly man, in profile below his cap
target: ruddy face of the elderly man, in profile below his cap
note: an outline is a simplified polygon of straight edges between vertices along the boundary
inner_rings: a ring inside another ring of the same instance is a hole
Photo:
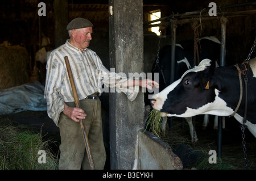
[[[79,49],[89,47],[90,40],[92,40],[92,27],[80,28],[75,31],[76,47]]]

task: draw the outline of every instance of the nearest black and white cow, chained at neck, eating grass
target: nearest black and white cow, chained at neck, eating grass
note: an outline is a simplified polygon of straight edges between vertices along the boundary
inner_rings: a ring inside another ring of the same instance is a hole
[[[256,137],[256,58],[247,64],[248,69],[247,121],[249,131]],[[230,116],[240,100],[240,79],[236,66],[214,68],[212,61],[205,59],[198,66],[187,70],[181,78],[154,95],[152,107],[167,113],[167,116],[191,117],[200,114]],[[243,82],[241,104],[234,118],[242,124],[245,108],[245,84]]]

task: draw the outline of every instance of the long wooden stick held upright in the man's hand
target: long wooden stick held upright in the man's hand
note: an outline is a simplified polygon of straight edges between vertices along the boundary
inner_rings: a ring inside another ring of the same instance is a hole
[[[73,96],[74,96],[74,99],[75,99],[76,107],[80,108],[79,97],[77,95],[76,86],[75,86],[74,78],[73,78],[73,75],[72,75],[72,70],[71,70],[71,67],[70,67],[70,64],[69,64],[69,61],[68,61],[68,57],[65,56],[64,58],[65,58],[66,66],[67,66],[68,77],[69,77],[69,81],[71,83],[71,88],[72,88],[72,91],[73,91]],[[84,125],[83,121],[84,120],[82,120],[82,119],[79,120],[81,129],[82,129],[82,136],[84,137],[84,143],[85,143],[85,148],[86,148],[86,151],[87,151],[88,159],[89,159],[89,162],[90,162],[90,168],[92,170],[94,170],[95,167],[94,167],[93,157],[92,157],[92,153],[90,151],[88,136],[87,136],[85,125]]]

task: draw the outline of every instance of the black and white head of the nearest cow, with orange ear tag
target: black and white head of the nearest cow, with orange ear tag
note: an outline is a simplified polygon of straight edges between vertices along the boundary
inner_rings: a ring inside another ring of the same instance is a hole
[[[180,79],[153,96],[152,107],[177,117],[213,113],[209,112],[209,106],[216,104],[218,91],[211,82],[215,66],[211,64],[212,61],[204,59],[187,70]]]

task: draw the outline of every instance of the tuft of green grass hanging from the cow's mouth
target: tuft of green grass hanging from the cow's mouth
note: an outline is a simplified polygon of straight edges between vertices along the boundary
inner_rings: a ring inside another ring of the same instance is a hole
[[[164,119],[167,119],[167,116],[162,117],[162,113],[158,110],[151,110],[146,123],[146,129],[149,128],[149,131],[159,138],[164,134],[163,130],[167,123],[164,121]]]

